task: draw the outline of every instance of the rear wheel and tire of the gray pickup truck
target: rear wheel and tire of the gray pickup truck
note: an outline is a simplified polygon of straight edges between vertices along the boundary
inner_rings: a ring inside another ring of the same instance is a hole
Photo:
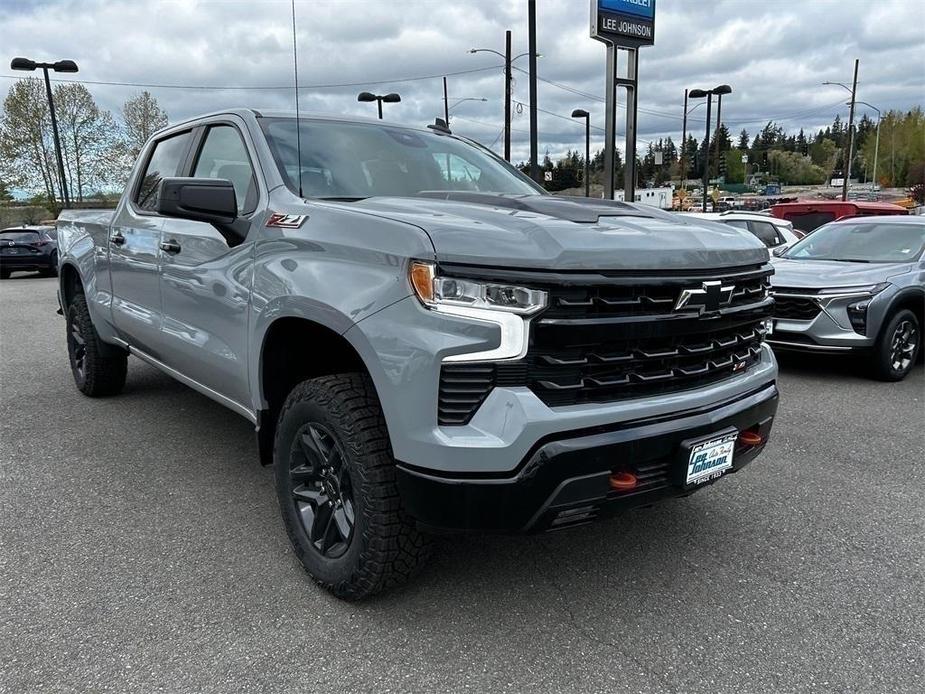
[[[84,395],[117,395],[125,386],[128,355],[100,339],[82,293],[77,293],[67,307],[67,353],[74,383]]]

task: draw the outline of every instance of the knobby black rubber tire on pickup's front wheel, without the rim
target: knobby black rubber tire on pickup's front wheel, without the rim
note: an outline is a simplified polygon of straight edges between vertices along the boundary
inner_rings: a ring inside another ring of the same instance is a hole
[[[311,425],[324,428],[340,447],[348,477],[345,488],[349,487],[354,525],[346,551],[335,558],[323,554],[309,538],[293,493],[305,488],[292,477],[299,463],[296,436]],[[426,563],[431,541],[402,509],[385,419],[368,376],[338,374],[298,384],[280,411],[273,465],[280,511],[295,554],[308,574],[338,598],[360,600],[404,583]]]

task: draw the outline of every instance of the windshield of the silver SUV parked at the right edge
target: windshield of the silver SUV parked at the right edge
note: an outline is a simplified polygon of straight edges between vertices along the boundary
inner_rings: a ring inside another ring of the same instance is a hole
[[[925,223],[836,222],[816,229],[795,243],[785,258],[840,260],[859,263],[901,263],[925,250]]]

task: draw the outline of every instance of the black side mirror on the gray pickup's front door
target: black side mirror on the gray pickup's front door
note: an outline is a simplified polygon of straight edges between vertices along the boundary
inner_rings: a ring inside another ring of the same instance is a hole
[[[238,218],[234,186],[222,178],[161,179],[157,213],[211,224],[229,247],[244,240],[249,226],[246,220]]]

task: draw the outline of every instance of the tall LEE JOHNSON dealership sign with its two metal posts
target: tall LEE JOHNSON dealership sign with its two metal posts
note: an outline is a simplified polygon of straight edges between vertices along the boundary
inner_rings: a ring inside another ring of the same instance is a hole
[[[613,200],[615,185],[617,87],[626,89],[624,200],[636,199],[636,112],[639,54],[655,43],[655,0],[591,0],[591,38],[607,45],[607,111],[604,117],[604,197]],[[626,56],[626,75],[617,74],[617,59]]]

